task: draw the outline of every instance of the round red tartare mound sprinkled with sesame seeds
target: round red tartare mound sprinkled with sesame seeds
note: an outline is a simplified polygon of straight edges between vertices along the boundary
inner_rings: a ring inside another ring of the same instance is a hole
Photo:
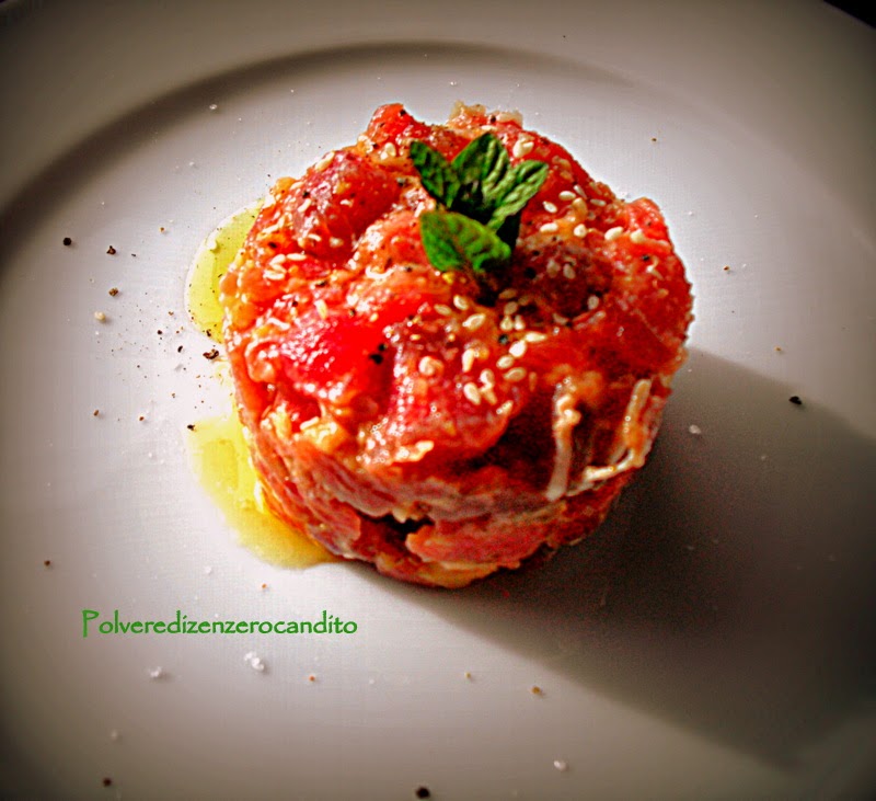
[[[436,266],[420,218],[441,203],[412,142],[451,163],[484,134],[546,174],[499,231],[509,259]],[[221,302],[274,512],[333,553],[446,587],[602,522],[645,462],[691,321],[657,206],[480,106],[445,125],[383,106],[355,145],[277,181]]]

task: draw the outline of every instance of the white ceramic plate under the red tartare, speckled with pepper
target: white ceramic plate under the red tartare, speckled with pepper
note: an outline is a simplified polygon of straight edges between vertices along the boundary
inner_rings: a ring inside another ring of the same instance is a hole
[[[871,30],[818,3],[556,0],[0,20],[7,794],[874,790]],[[458,99],[664,208],[696,322],[661,439],[541,568],[443,593],[266,564],[187,466],[186,424],[226,403],[185,320],[192,254],[377,105]],[[358,631],[84,639],[83,609]]]

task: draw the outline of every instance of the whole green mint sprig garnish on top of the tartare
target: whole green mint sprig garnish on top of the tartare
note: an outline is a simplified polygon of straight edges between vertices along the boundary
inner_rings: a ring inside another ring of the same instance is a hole
[[[475,273],[507,265],[520,231],[520,215],[548,178],[548,164],[511,165],[495,134],[470,141],[451,161],[422,141],[411,160],[423,187],[439,205],[419,218],[426,255],[440,270],[470,266]]]

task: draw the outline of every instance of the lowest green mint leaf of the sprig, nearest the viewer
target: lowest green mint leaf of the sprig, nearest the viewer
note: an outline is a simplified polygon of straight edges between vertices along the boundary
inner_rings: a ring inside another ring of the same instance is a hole
[[[456,211],[424,211],[419,236],[436,270],[471,267],[484,273],[511,259],[511,248],[484,225]]]

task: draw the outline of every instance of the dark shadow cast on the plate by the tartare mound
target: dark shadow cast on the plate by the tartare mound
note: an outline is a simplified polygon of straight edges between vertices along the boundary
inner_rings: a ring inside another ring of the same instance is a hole
[[[695,351],[688,367],[648,466],[591,538],[450,594],[373,581],[791,766],[876,689],[876,448],[771,379]]]

